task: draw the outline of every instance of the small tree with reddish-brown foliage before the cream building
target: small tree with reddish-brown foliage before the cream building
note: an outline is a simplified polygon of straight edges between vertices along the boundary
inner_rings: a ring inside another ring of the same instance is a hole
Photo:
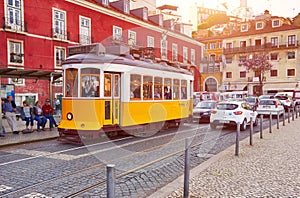
[[[265,74],[273,67],[269,62],[269,55],[267,53],[250,55],[248,59],[242,60],[239,66],[244,66],[247,71],[253,71],[259,74],[260,94],[262,94]]]

